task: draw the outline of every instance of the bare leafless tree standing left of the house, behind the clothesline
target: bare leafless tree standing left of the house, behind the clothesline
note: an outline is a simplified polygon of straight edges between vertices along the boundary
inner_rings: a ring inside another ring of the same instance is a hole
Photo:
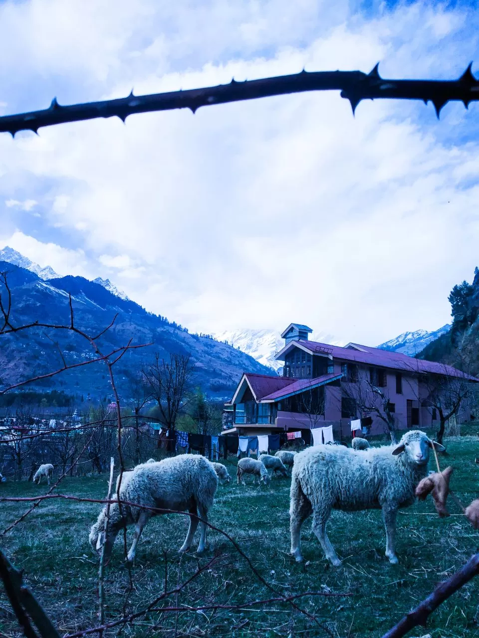
[[[165,361],[155,353],[153,362],[144,367],[143,376],[149,396],[158,404],[160,420],[171,435],[192,388],[193,368],[190,355],[172,353],[169,361]]]

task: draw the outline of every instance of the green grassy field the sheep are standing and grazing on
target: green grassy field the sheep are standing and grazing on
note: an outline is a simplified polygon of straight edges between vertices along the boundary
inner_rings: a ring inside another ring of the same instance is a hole
[[[446,441],[448,457],[443,467],[455,468],[451,487],[463,503],[479,496],[479,438],[465,436]],[[234,462],[227,463],[234,476]],[[430,465],[432,468],[432,465]],[[215,636],[246,637],[333,635],[338,638],[381,636],[405,612],[429,593],[438,581],[452,574],[478,551],[479,533],[459,514],[451,501],[452,516],[439,519],[432,501],[413,505],[399,514],[397,553],[399,565],[384,557],[384,530],[380,512],[345,514],[334,512],[328,533],[342,567],[332,568],[323,558],[319,542],[303,528],[305,566],[294,563],[289,550],[289,479],[272,479],[271,487],[248,485],[218,488],[210,522],[229,533],[250,557],[268,583],[283,595],[302,591],[351,593],[350,597],[306,597],[298,601],[314,614],[323,627],[290,605],[247,604],[273,594],[259,582],[225,537],[209,532],[209,551],[178,556],[188,520],[178,515],[153,519],[146,526],[132,568],[133,590],[123,564],[123,542],[118,538],[107,568],[106,618],[146,607],[160,594],[167,568],[168,588],[174,588],[201,565],[217,557],[178,597],[172,595],[157,607],[181,605],[242,605],[238,610],[158,611],[133,626],[105,632],[126,636]],[[2,495],[31,496],[46,486],[22,482],[0,484]],[[87,498],[105,498],[106,477],[65,479],[59,493]],[[15,520],[26,505],[1,503],[1,528]],[[60,632],[75,632],[97,623],[98,561],[87,542],[89,527],[100,505],[73,501],[42,503],[2,545],[11,561],[25,570],[26,579]],[[132,530],[128,532],[130,542]],[[197,538],[195,538],[197,542]],[[156,629],[154,628],[156,626]],[[428,630],[434,638],[479,636],[479,578],[454,595],[433,614]],[[0,598],[1,635],[20,635],[6,598]],[[425,634],[417,630],[413,635]]]

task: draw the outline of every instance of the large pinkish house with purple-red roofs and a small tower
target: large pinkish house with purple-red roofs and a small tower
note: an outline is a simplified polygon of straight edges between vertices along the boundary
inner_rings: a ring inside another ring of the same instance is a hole
[[[276,355],[284,362],[282,376],[243,373],[225,404],[228,433],[307,434],[332,425],[335,439],[342,439],[351,436],[351,420],[365,419],[368,432],[379,434],[387,429],[386,411],[397,429],[432,427],[439,419],[434,387],[479,382],[452,366],[398,352],[309,341],[311,332],[300,323],[282,332],[285,345]],[[468,420],[467,406],[460,409]]]

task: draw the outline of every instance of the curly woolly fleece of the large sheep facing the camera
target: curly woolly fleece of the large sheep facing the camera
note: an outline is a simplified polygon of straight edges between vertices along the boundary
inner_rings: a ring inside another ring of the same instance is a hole
[[[410,431],[406,436],[415,435],[416,431]],[[291,489],[296,479],[313,509],[315,504],[323,507],[325,501],[350,512],[381,508],[384,503],[407,507],[414,502],[414,487],[425,476],[427,464],[411,465],[404,461],[404,454],[393,456],[396,447],[384,445],[361,454],[344,446],[310,447],[294,458]]]

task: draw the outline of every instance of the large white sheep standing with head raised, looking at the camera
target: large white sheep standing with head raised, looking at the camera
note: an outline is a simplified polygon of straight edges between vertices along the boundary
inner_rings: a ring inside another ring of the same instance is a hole
[[[444,447],[434,443],[436,450]],[[386,556],[397,563],[395,528],[397,510],[414,502],[414,489],[427,474],[432,441],[419,430],[402,436],[398,445],[372,447],[358,454],[351,448],[317,445],[294,459],[290,491],[291,554],[301,556],[300,533],[313,514],[312,530],[324,554],[340,565],[326,534],[331,509],[354,512],[383,510],[386,528]]]

